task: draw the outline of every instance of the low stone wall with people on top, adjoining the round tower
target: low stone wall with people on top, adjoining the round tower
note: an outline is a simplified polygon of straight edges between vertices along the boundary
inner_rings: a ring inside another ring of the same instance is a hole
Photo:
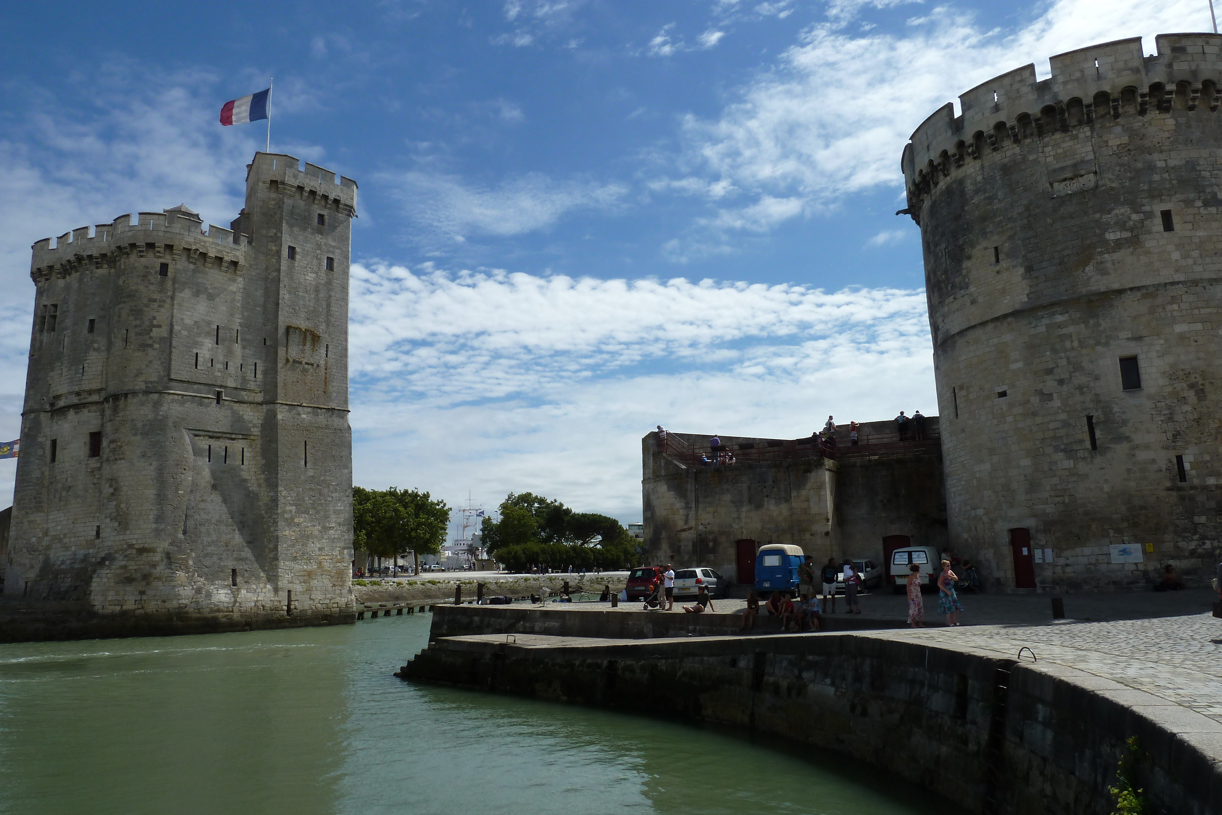
[[[676,440],[684,451],[706,452],[706,435],[671,433],[667,442],[651,433],[642,440],[644,558],[710,566],[738,582],[738,540],[802,546],[818,563],[853,557],[881,565],[890,535],[941,547],[947,522],[938,418],[929,417],[926,428],[929,441],[903,446],[893,422],[865,423],[862,446],[849,447],[848,426],[840,425],[837,447],[826,455],[808,439],[720,436],[736,453],[733,466],[667,452]]]

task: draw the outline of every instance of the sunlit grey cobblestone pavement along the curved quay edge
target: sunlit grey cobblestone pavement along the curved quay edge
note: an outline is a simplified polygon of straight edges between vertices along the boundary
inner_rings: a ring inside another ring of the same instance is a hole
[[[1222,619],[1211,615],[963,626],[902,630],[893,635],[986,649],[1011,659],[1025,645],[1040,661],[1144,690],[1222,722]]]

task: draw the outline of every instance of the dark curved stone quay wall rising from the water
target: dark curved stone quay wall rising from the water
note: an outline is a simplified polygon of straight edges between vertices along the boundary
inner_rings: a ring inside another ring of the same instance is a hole
[[[989,815],[1107,815],[1136,736],[1138,783],[1155,811],[1222,811],[1212,720],[1136,690],[1097,692],[1096,677],[1072,668],[903,634],[442,638],[397,676],[738,727]]]

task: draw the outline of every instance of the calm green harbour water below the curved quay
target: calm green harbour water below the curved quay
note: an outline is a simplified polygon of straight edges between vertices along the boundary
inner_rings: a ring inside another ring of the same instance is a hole
[[[400,682],[429,622],[0,645],[0,813],[934,811],[808,748]]]

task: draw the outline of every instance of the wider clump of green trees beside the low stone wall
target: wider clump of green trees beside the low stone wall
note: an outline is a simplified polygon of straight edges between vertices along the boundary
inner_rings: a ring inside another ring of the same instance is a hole
[[[596,512],[573,512],[533,492],[501,502],[500,521],[484,518],[480,536],[489,555],[506,568],[627,568],[638,562],[633,539],[618,521]]]

